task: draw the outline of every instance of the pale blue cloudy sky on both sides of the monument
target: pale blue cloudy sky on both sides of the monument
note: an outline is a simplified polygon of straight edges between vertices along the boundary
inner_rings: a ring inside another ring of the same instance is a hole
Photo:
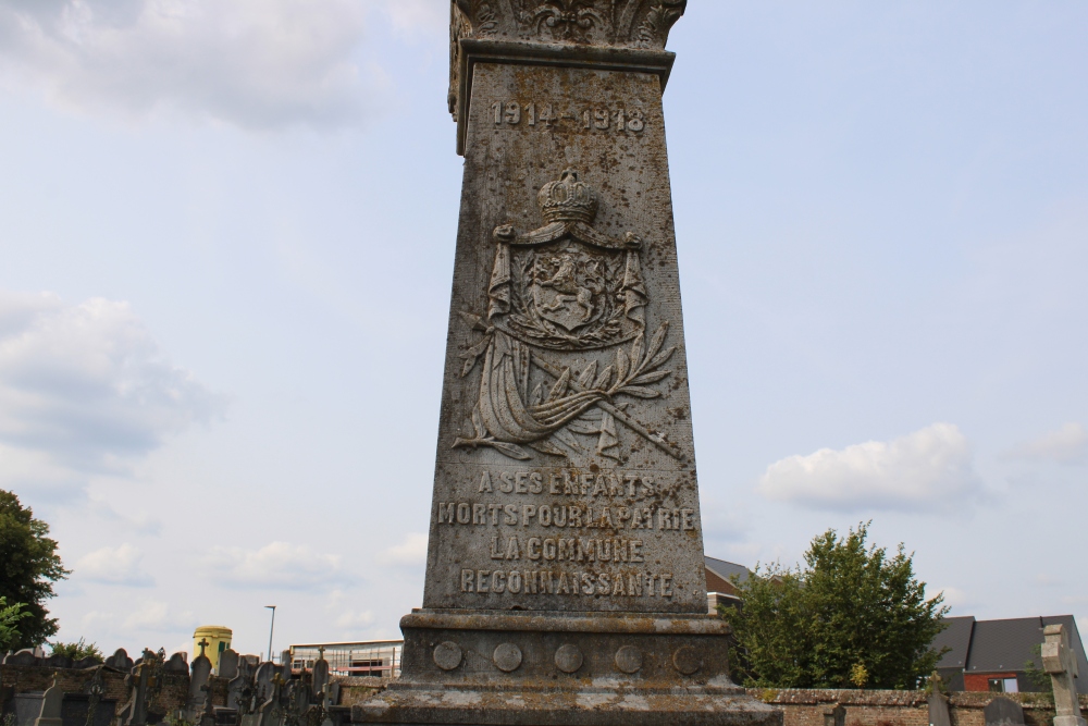
[[[418,606],[460,159],[444,0],[0,0],[0,487],[61,638]],[[1088,7],[693,0],[665,95],[707,554],[871,519],[1088,615]],[[1083,626],[1088,625],[1081,620]]]

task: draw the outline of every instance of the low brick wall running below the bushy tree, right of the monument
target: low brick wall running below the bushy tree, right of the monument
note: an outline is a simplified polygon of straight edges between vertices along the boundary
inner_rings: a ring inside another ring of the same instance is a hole
[[[825,726],[825,715],[836,704],[845,709],[845,726],[929,726],[925,691],[752,688],[749,693],[782,709],[783,726]],[[1054,704],[1049,694],[957,691],[949,698],[952,726],[985,726],[982,709],[998,696],[1021,704],[1027,726],[1053,723]],[[1088,712],[1088,696],[1080,697],[1080,707]]]

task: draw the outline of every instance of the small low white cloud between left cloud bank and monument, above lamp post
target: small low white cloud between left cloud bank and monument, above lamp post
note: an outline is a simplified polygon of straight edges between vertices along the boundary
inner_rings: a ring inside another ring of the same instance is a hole
[[[272,542],[260,550],[212,547],[203,564],[217,581],[234,588],[304,590],[348,579],[339,556],[287,542]]]

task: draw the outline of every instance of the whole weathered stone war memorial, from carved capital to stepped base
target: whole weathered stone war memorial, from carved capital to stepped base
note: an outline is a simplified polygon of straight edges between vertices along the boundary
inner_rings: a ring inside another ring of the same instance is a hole
[[[685,0],[455,0],[465,157],[390,724],[744,724],[707,615],[662,94]]]

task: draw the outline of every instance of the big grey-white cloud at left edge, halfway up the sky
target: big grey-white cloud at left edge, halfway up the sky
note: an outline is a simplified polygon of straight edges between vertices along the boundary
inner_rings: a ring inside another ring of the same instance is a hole
[[[77,491],[222,409],[126,303],[0,293],[0,485]]]

